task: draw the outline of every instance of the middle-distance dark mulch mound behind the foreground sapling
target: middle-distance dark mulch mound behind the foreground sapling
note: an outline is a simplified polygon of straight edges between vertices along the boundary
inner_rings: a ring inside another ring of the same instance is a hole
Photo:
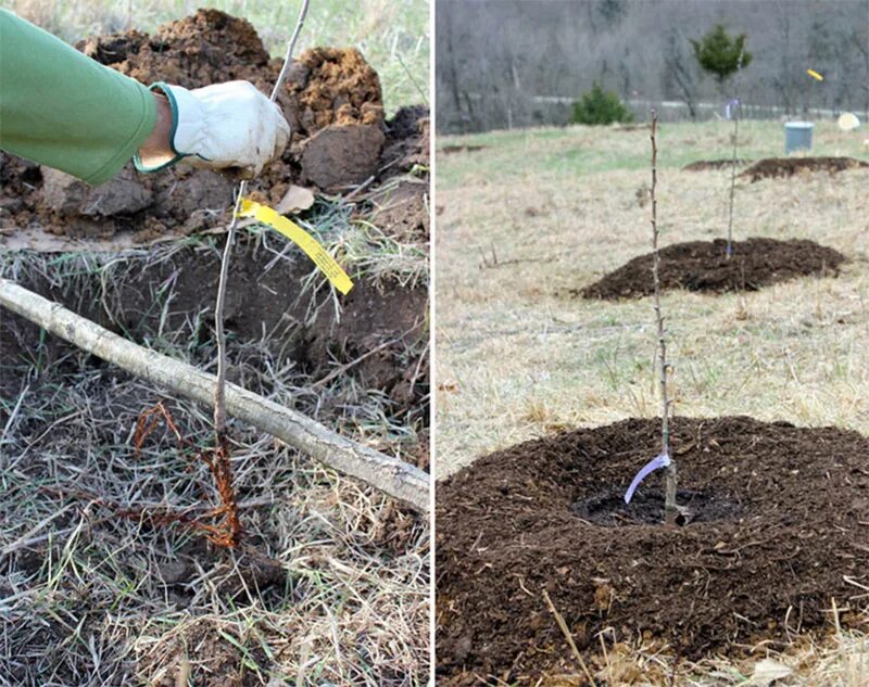
[[[757,291],[797,277],[839,275],[845,256],[815,241],[747,239],[733,242],[727,258],[727,241],[689,241],[660,249],[662,290],[684,289],[711,293]],[[634,257],[600,281],[572,291],[583,298],[640,298],[655,292],[652,281],[654,254]]]

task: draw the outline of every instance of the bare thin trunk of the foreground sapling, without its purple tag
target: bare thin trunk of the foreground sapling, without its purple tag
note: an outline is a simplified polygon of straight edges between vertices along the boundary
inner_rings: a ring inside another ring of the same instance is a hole
[[[667,340],[665,338],[664,316],[660,313],[660,255],[658,253],[658,204],[655,191],[658,181],[658,113],[652,111],[652,278],[655,281],[655,320],[658,329],[658,364],[660,367],[660,454],[670,455],[670,398],[667,395]],[[666,493],[664,499],[664,519],[667,524],[676,524],[679,510],[676,506],[676,462],[670,459],[665,475]]]

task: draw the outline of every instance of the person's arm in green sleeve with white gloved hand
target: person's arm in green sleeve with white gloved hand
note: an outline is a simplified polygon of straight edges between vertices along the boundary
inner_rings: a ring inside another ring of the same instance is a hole
[[[98,185],[130,157],[139,171],[186,160],[252,178],[289,138],[248,81],[146,88],[0,10],[0,149]]]

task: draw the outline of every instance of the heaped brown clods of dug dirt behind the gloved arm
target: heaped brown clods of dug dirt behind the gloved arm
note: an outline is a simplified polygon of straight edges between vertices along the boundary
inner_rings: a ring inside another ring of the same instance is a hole
[[[89,38],[77,48],[148,85],[197,88],[248,79],[269,94],[281,67],[281,59],[269,59],[247,21],[217,10],[165,24],[153,36],[131,30]],[[342,192],[367,181],[371,190],[407,171],[410,166],[395,165],[385,150],[394,149],[399,129],[413,139],[411,147],[425,138],[420,154],[428,164],[428,112],[408,109],[415,113],[414,126],[385,122],[377,73],[355,49],[303,52],[278,102],[291,125],[291,143],[249,187],[266,202],[277,203],[291,183]],[[399,118],[407,117],[400,112]],[[136,243],[147,243],[229,220],[235,180],[213,171],[178,165],[142,175],[130,163],[115,179],[90,188],[63,173],[0,155],[0,229],[5,234],[29,230],[106,239],[131,233]]]

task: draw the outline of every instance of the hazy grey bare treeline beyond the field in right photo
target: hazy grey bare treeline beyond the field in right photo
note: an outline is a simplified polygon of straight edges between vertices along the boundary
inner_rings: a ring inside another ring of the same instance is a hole
[[[752,56],[723,80],[692,46],[718,24]],[[744,117],[869,117],[869,0],[437,0],[436,40],[442,133],[568,124],[595,86],[639,120],[723,116],[735,88]]]

